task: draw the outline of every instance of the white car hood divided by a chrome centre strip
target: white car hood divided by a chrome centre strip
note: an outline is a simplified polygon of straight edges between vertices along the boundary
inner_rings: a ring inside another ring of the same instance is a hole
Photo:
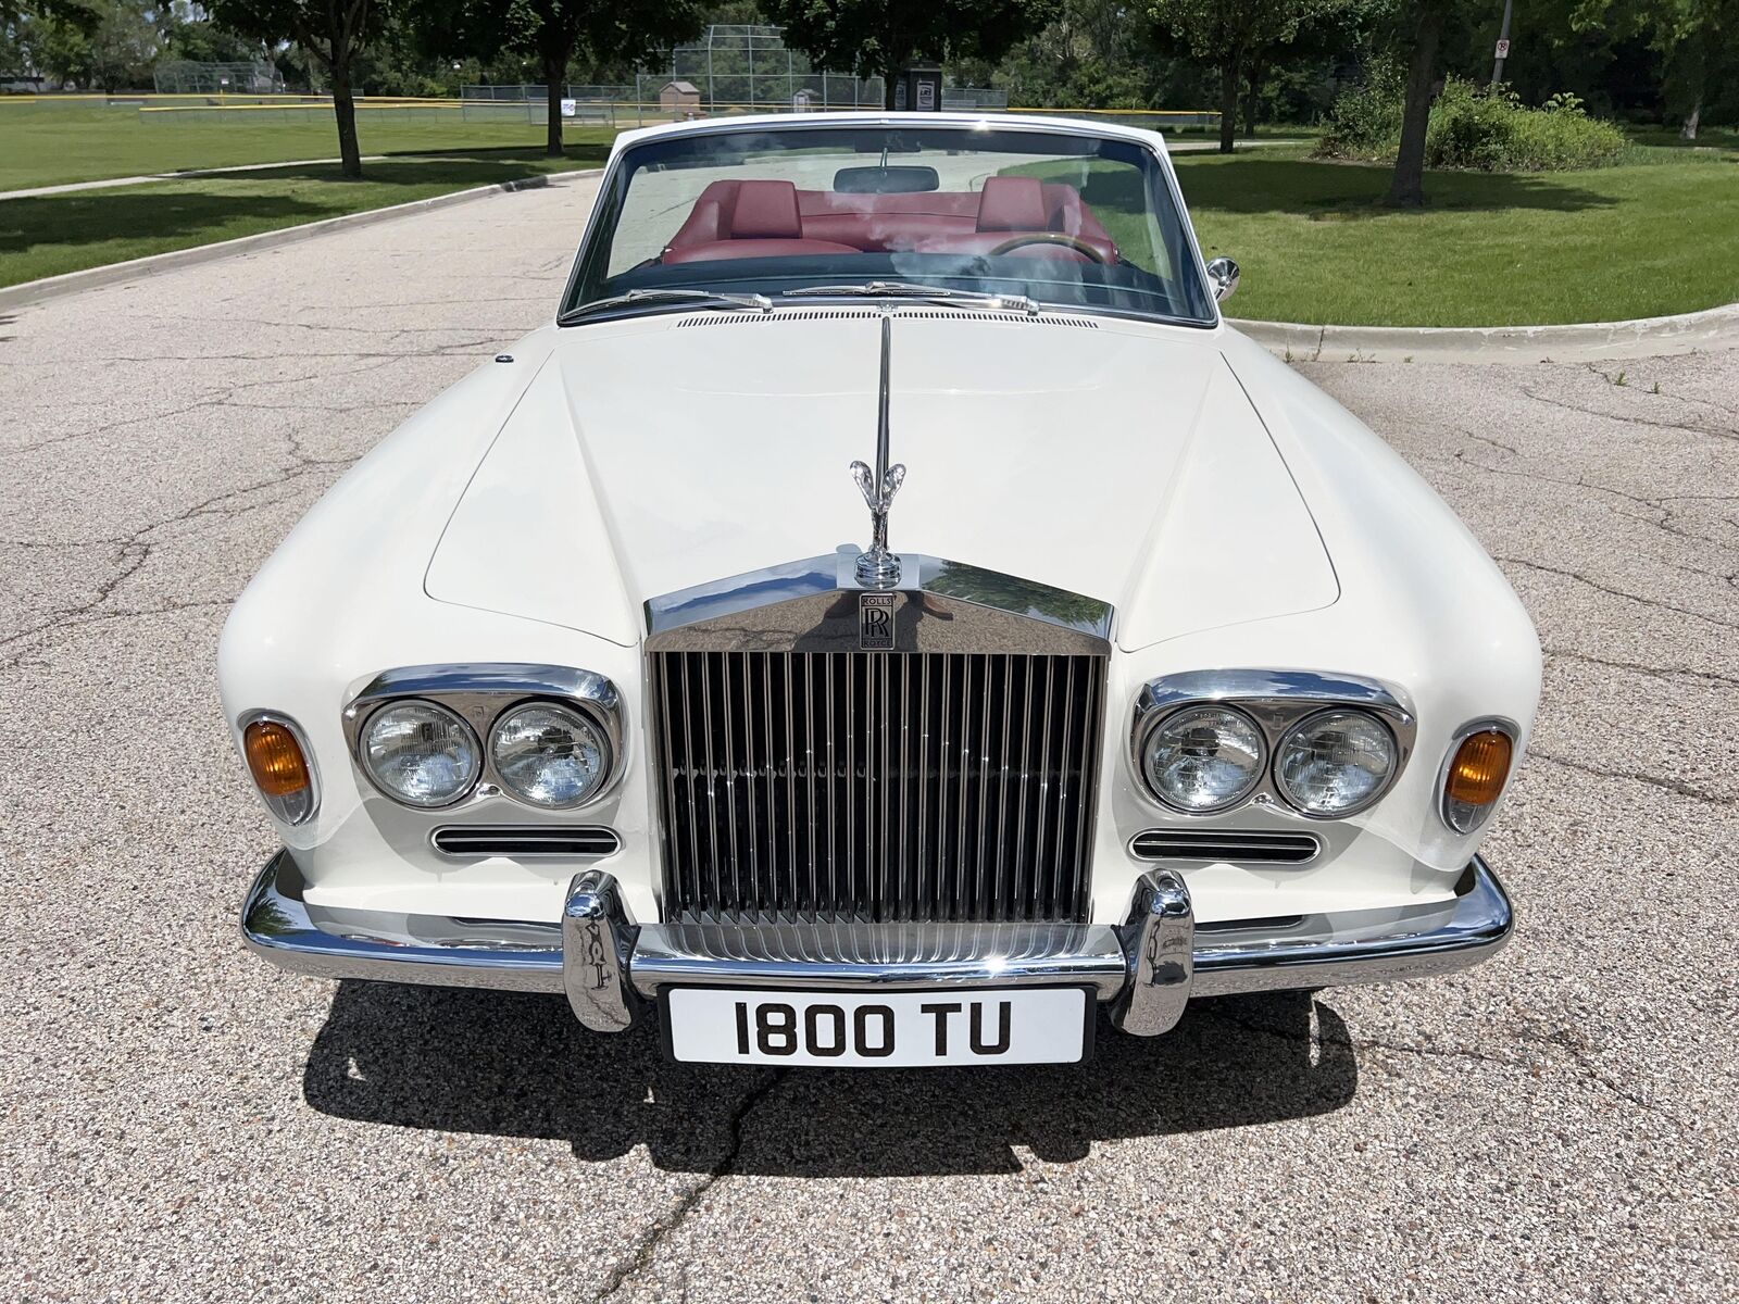
[[[1125,649],[1334,602],[1216,332],[903,309],[890,339],[896,551],[1109,602]],[[868,546],[878,376],[873,309],[560,330],[426,589],[633,645],[647,598]]]

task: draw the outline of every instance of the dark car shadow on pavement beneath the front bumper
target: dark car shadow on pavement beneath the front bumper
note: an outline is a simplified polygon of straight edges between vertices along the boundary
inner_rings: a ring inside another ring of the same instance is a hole
[[[1196,1001],[1160,1038],[1101,1015],[1087,1064],[866,1073],[673,1064],[656,1021],[588,1033],[560,996],[344,982],[303,1074],[334,1118],[796,1177],[1016,1172],[1016,1146],[1063,1163],[1329,1113],[1356,1087],[1346,1026],[1304,993]]]

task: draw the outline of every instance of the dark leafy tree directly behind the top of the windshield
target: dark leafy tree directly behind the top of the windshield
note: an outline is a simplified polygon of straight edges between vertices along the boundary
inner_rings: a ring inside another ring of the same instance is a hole
[[[894,108],[894,78],[918,61],[1002,59],[1043,28],[1059,0],[762,0],[784,43],[817,68],[880,77]]]

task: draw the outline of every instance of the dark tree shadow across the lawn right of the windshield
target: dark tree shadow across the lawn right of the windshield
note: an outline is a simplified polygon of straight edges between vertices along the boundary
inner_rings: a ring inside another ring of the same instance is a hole
[[[1426,207],[1384,207],[1391,169],[1304,158],[1238,156],[1228,163],[1181,162],[1177,183],[1191,212],[1283,212],[1313,221],[1358,221],[1431,212],[1501,212],[1546,209],[1582,212],[1610,209],[1609,195],[1570,184],[1558,176],[1522,172],[1428,172]],[[1096,186],[1127,184],[1118,174],[1094,174],[1082,198],[1097,205]],[[1108,202],[1115,202],[1109,200]]]

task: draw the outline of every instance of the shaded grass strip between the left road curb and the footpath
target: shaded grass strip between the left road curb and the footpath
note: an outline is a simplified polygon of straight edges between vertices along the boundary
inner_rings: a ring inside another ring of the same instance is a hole
[[[336,165],[318,163],[0,200],[0,285],[470,186],[596,167],[603,153],[603,144],[584,144],[569,146],[567,158],[544,158],[537,151],[391,158],[367,163],[362,181],[343,181]],[[577,223],[574,230],[579,231]]]

